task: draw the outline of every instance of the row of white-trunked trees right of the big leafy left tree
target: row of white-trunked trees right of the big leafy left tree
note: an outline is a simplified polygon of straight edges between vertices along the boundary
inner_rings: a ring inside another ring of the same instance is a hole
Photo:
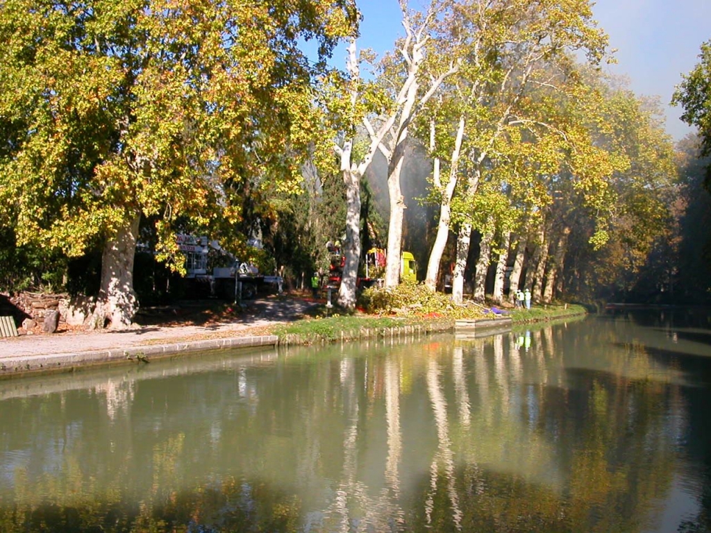
[[[402,169],[417,157],[407,147],[417,145],[427,149],[429,202],[437,205],[426,250],[430,289],[447,255],[454,301],[469,277],[474,298],[489,292],[501,301],[507,274],[510,294],[525,284],[538,301],[552,301],[567,286],[604,298],[634,289],[661,246],[669,249],[655,289],[673,289],[678,269],[669,259],[678,258],[678,247],[670,242],[683,208],[675,205],[683,194],[678,161],[658,102],[599,71],[611,58],[589,4],[443,1],[417,13],[400,5],[405,38],[365,87],[353,41],[350,85],[338,100],[346,113],[337,123],[357,119],[367,133],[357,164],[350,152],[355,126],[347,149],[336,146],[347,190],[357,190],[375,151],[387,162],[385,285],[398,281],[407,207]],[[385,102],[375,117],[373,101]],[[347,206],[349,282],[339,293],[346,306],[355,301],[358,198],[349,195]]]

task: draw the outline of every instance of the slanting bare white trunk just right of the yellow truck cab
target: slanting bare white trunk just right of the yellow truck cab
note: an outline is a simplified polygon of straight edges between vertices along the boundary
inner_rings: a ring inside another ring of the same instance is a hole
[[[427,262],[427,277],[424,279],[424,284],[428,289],[434,291],[437,288],[437,276],[439,276],[439,263],[442,261],[444,247],[447,246],[447,237],[449,237],[449,222],[451,220],[451,208],[449,203],[454,195],[456,187],[457,167],[459,165],[459,154],[461,153],[461,141],[464,138],[464,126],[466,122],[464,117],[459,117],[459,127],[456,131],[456,139],[454,140],[454,149],[451,153],[449,181],[442,188],[442,182],[439,179],[439,158],[434,160],[434,170],[432,178],[434,186],[442,191],[442,200],[439,203],[439,222],[437,222],[437,236],[434,237],[432,244],[432,252],[429,254],[429,262]],[[433,128],[434,129],[434,128]],[[434,149],[434,131],[432,131],[432,140],[430,141],[431,149]]]

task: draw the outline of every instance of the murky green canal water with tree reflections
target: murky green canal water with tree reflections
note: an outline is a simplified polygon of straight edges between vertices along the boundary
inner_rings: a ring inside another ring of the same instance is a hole
[[[0,382],[1,532],[707,532],[711,326],[205,354]]]

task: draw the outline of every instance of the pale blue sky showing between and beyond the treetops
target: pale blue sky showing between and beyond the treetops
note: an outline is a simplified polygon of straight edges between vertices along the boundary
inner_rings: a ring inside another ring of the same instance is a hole
[[[358,0],[358,7],[363,12],[358,48],[382,54],[404,35],[397,0]],[[711,0],[597,0],[593,13],[610,48],[617,49],[617,63],[605,70],[627,77],[636,95],[659,97],[674,140],[693,131],[669,102],[681,75],[698,63],[701,44],[711,41]],[[333,57],[334,66],[339,59]]]

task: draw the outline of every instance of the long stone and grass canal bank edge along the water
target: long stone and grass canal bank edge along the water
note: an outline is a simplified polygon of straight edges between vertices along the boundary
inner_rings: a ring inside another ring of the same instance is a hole
[[[501,325],[516,325],[540,321],[552,321],[558,318],[580,316],[586,313],[582,306],[571,306],[564,309],[550,308],[531,311],[515,311],[501,320],[496,318],[482,318],[479,329],[491,330],[496,333],[501,330]],[[323,323],[332,318],[317,318],[297,321],[296,323]],[[353,321],[358,321],[353,318]],[[476,323],[476,321],[470,321]],[[353,340],[368,340],[375,338],[419,338],[432,333],[454,333],[456,321],[454,319],[404,319],[401,325],[385,328],[358,327],[351,330],[341,329],[328,335],[319,333],[316,328],[308,333],[289,333],[288,328],[282,328],[279,334],[273,335],[239,335],[226,338],[208,338],[201,340],[183,340],[164,344],[146,344],[127,348],[109,348],[102,350],[84,350],[78,352],[60,352],[44,355],[21,355],[17,357],[3,357],[0,359],[0,379],[21,377],[23,375],[37,375],[43,373],[73,372],[85,367],[98,367],[101,365],[120,364],[145,364],[151,360],[159,360],[191,352],[205,352],[209,350],[235,350],[245,348],[262,348],[277,345],[314,345],[335,342],[349,342]],[[176,335],[179,337],[179,335]]]

